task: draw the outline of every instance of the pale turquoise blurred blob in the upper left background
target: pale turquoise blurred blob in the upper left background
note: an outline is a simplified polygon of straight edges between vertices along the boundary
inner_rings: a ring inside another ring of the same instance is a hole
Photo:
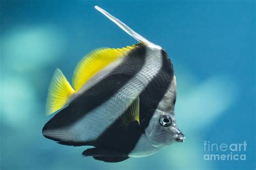
[[[18,27],[1,40],[3,61],[16,71],[41,68],[60,57],[63,34],[51,26]]]

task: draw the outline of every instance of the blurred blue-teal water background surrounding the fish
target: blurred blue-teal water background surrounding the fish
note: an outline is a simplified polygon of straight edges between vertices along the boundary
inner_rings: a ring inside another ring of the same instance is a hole
[[[42,136],[51,76],[99,47],[136,43],[99,5],[169,54],[185,143],[107,164]],[[255,1],[0,1],[1,169],[255,169]],[[204,142],[246,141],[246,160],[205,160]]]

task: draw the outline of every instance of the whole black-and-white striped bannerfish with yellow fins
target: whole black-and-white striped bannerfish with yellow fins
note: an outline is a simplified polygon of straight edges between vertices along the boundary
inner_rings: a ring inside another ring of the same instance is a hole
[[[72,85],[56,69],[49,86],[43,136],[59,144],[93,146],[82,155],[105,162],[146,157],[185,136],[176,125],[176,77],[164,48],[95,6],[139,41],[99,48],[77,65]]]

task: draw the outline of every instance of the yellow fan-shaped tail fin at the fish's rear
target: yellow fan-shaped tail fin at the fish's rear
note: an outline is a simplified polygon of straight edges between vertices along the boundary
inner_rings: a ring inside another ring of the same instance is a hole
[[[60,69],[57,68],[52,76],[48,90],[45,107],[46,115],[51,115],[63,108],[73,93],[75,93],[75,90],[70,86]]]

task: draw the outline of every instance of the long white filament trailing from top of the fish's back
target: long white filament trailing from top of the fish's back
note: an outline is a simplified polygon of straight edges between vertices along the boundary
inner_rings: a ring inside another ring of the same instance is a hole
[[[147,40],[146,38],[140,36],[140,34],[138,34],[137,32],[133,31],[129,26],[125,25],[123,22],[121,22],[119,19],[117,19],[116,17],[110,15],[110,13],[106,12],[105,10],[103,10],[102,8],[99,8],[99,6],[95,6],[95,9],[97,9],[99,12],[103,13],[103,15],[105,15],[107,18],[109,18],[110,20],[112,20],[112,22],[114,22],[115,24],[117,24],[122,30],[124,30],[127,34],[129,34],[131,37],[133,37],[134,39],[136,39],[137,41],[141,41],[144,42],[146,45],[148,45],[149,47],[152,48],[159,48],[161,49],[160,46],[153,44],[153,42],[150,42],[149,40]]]

